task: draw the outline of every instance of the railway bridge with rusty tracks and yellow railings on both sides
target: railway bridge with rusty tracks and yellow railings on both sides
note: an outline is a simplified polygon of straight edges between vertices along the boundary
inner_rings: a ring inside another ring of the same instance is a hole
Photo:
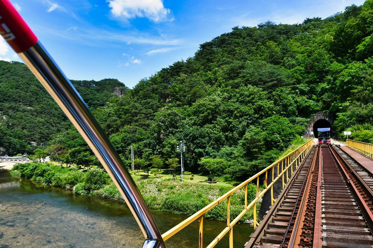
[[[264,182],[264,189],[259,188],[259,181]],[[248,185],[253,183],[256,197],[248,202]],[[281,187],[279,195],[273,190],[275,185]],[[252,210],[255,230],[245,248],[373,247],[372,189],[373,144],[347,140],[346,146],[314,145],[309,140],[162,234],[162,238],[166,241],[198,220],[200,248],[215,247],[225,235],[232,248],[234,225]],[[245,192],[245,207],[232,217],[230,198],[239,190]],[[256,206],[262,197],[271,207],[258,223]],[[218,204],[227,208],[227,225],[205,246],[203,215]]]

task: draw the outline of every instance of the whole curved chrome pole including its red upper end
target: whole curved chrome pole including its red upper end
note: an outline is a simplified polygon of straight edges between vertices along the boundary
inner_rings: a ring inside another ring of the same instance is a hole
[[[149,208],[107,135],[9,0],[0,0],[0,34],[26,63],[100,160],[146,238],[143,248],[164,248],[164,241]]]

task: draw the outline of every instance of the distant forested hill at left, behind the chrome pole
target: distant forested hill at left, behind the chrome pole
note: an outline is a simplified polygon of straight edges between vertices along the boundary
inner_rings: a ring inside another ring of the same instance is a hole
[[[116,79],[72,83],[91,109],[127,90]],[[69,127],[67,117],[25,64],[0,61],[0,155],[33,153],[35,144],[46,144]]]

